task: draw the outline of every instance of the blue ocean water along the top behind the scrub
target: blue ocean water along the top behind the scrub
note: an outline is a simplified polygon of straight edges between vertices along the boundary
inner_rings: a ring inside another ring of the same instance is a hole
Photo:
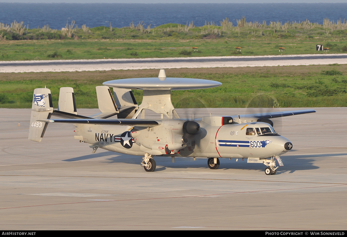
[[[237,19],[246,21],[323,23],[324,18],[335,22],[347,20],[347,3],[0,3],[0,22],[10,24],[23,21],[29,28],[42,28],[49,24],[52,29],[61,29],[66,21],[74,20],[75,26],[127,27],[143,22],[151,28],[167,23],[203,26],[228,18],[236,25]]]

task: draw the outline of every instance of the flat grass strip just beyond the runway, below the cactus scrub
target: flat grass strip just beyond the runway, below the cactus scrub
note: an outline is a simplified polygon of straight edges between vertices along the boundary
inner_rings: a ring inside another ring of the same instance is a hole
[[[332,45],[329,52],[316,44]],[[192,39],[192,40],[17,40],[0,41],[0,60],[77,60],[103,58],[164,58],[342,53],[341,42],[304,39]],[[197,49],[193,49],[197,47]],[[235,51],[241,47],[241,51]],[[279,47],[285,47],[284,52]]]

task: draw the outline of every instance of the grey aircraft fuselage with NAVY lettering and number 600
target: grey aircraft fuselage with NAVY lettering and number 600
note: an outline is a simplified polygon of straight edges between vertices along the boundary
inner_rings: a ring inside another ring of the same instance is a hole
[[[288,139],[264,122],[222,125],[223,117],[194,120],[197,134],[183,138],[186,120],[170,119],[155,127],[76,124],[76,138],[113,152],[143,156],[269,158],[292,148]],[[207,135],[209,134],[209,135]]]

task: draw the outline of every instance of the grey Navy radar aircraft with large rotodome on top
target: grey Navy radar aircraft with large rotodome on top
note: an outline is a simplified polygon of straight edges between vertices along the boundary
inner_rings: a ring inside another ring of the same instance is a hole
[[[71,123],[75,126],[75,139],[87,143],[93,149],[92,153],[100,147],[143,156],[141,166],[147,172],[155,170],[154,156],[167,156],[172,162],[175,157],[206,157],[211,169],[219,167],[219,158],[247,158],[247,163],[263,163],[266,175],[276,174],[276,160],[283,166],[280,155],[290,151],[293,144],[276,133],[270,119],[315,111],[179,118],[171,102],[171,90],[220,85],[211,80],[167,78],[164,70],[160,70],[158,78],[107,81],[103,86],[96,86],[100,113],[91,117],[77,115],[73,88],[60,88],[57,110],[53,109],[51,91],[37,88],[34,90],[29,140],[41,142],[49,123]],[[140,105],[132,93],[134,89],[143,90]],[[160,119],[145,119],[145,110],[155,112]],[[115,115],[117,119],[111,118]],[[51,116],[63,119],[52,119]]]

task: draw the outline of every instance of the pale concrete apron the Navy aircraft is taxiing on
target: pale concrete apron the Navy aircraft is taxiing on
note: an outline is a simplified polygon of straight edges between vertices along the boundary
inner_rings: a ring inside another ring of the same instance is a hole
[[[210,170],[207,159],[160,157],[145,172],[141,157],[92,154],[72,125],[50,124],[41,143],[29,141],[30,109],[0,109],[0,229],[345,230],[347,108],[316,111],[282,118],[294,148],[268,176],[246,159]]]

